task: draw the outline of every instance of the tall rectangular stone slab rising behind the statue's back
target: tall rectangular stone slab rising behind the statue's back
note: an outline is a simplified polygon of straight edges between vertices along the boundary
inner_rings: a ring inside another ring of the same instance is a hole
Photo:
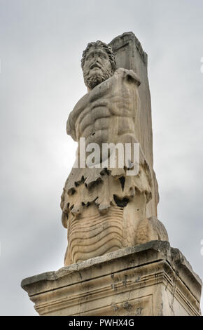
[[[147,217],[157,216],[159,202],[158,182],[153,171],[153,131],[151,118],[151,93],[148,83],[148,55],[144,52],[139,40],[133,32],[125,32],[114,38],[109,46],[116,56],[116,65],[133,70],[141,81],[139,98],[141,101],[141,118],[139,143],[144,150],[145,157],[151,167],[153,178],[153,199],[147,204]]]

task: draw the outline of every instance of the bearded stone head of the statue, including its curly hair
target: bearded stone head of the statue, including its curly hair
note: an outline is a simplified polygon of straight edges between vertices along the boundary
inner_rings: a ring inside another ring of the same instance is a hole
[[[113,76],[116,70],[115,55],[110,46],[102,41],[91,42],[83,51],[81,60],[83,77],[88,90]]]

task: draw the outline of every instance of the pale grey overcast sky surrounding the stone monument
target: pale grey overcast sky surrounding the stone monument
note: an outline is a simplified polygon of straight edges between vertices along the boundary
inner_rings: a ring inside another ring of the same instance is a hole
[[[21,280],[63,265],[80,58],[123,32],[148,53],[158,218],[203,278],[202,30],[202,0],[0,0],[0,315],[36,315]]]

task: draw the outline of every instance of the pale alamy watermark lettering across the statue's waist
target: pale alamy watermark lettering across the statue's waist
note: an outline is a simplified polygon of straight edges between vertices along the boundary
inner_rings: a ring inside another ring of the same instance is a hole
[[[78,152],[79,151],[79,152]],[[74,168],[127,169],[127,176],[139,173],[139,143],[88,143],[80,138]]]

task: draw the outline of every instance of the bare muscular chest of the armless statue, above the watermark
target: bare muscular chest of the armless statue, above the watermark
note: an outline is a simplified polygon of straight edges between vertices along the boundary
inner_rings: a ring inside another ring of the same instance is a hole
[[[134,107],[139,103],[135,79],[134,72],[120,68],[85,94],[69,116],[67,133],[77,141],[85,138],[86,145],[118,143],[123,136],[125,143],[132,142],[139,117],[139,107]]]

